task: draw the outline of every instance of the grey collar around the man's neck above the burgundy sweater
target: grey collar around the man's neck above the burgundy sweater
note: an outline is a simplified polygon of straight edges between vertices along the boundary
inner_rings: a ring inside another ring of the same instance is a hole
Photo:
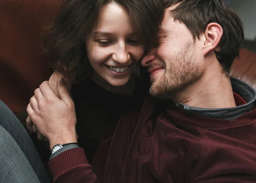
[[[194,114],[201,117],[234,120],[241,114],[250,112],[253,109],[253,104],[256,101],[256,91],[247,83],[241,80],[230,77],[233,92],[241,96],[247,104],[231,107],[231,108],[220,108],[220,109],[206,109],[188,106],[182,103],[177,103],[176,106],[183,109],[186,113]]]

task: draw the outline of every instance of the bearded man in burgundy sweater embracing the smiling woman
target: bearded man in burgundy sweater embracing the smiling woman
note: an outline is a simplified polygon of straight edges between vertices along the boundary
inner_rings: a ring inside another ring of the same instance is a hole
[[[55,182],[256,182],[256,92],[228,76],[244,38],[241,21],[221,0],[165,3],[158,46],[142,60],[150,94],[161,100],[146,97],[141,109],[123,113],[111,140],[99,146],[96,168],[81,148],[58,150],[49,161]],[[40,89],[50,91],[49,84]],[[43,117],[47,106],[61,105],[71,121],[62,126],[74,121],[61,80],[57,89],[61,103],[46,101],[38,114],[28,108],[52,144],[60,141],[52,130],[58,123]],[[73,128],[66,129],[75,142]]]

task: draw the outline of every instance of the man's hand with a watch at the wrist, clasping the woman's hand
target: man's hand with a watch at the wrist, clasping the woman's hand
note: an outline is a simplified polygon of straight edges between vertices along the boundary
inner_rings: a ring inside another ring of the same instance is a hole
[[[43,82],[35,90],[27,107],[36,126],[34,130],[32,127],[32,131],[38,129],[47,137],[51,149],[56,143],[77,142],[75,105],[62,78],[57,82],[57,91],[60,98],[53,92],[48,81]]]

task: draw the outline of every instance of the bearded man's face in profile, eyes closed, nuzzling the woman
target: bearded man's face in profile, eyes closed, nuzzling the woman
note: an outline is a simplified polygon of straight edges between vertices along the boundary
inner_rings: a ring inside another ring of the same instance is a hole
[[[200,41],[194,41],[183,23],[174,21],[170,9],[166,9],[158,34],[159,45],[142,60],[151,74],[150,94],[164,99],[198,80],[204,69]]]

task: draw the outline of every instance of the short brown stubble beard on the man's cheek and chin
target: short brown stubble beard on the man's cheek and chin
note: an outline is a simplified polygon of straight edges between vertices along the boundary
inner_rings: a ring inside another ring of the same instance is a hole
[[[165,62],[166,68],[158,80],[151,79],[149,93],[154,97],[170,99],[199,79],[199,67],[194,57],[193,43],[188,43],[175,57]],[[162,65],[163,63],[159,63]]]

